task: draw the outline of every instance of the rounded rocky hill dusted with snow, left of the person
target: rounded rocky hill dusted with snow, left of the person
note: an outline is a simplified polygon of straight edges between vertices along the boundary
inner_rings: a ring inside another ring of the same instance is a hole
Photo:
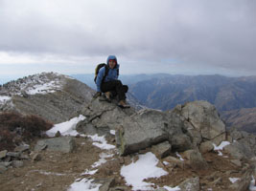
[[[0,97],[5,97],[0,101],[0,111],[37,115],[58,123],[76,115],[93,94],[87,85],[69,76],[35,74],[0,87]]]

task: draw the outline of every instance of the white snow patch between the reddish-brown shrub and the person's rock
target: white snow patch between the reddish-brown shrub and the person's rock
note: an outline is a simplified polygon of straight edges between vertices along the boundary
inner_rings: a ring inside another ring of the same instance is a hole
[[[85,117],[80,115],[79,117],[71,118],[70,120],[54,125],[54,127],[46,132],[49,137],[55,137],[59,131],[62,136],[77,136],[79,133],[76,130],[78,122]],[[82,136],[82,135],[81,135]]]

